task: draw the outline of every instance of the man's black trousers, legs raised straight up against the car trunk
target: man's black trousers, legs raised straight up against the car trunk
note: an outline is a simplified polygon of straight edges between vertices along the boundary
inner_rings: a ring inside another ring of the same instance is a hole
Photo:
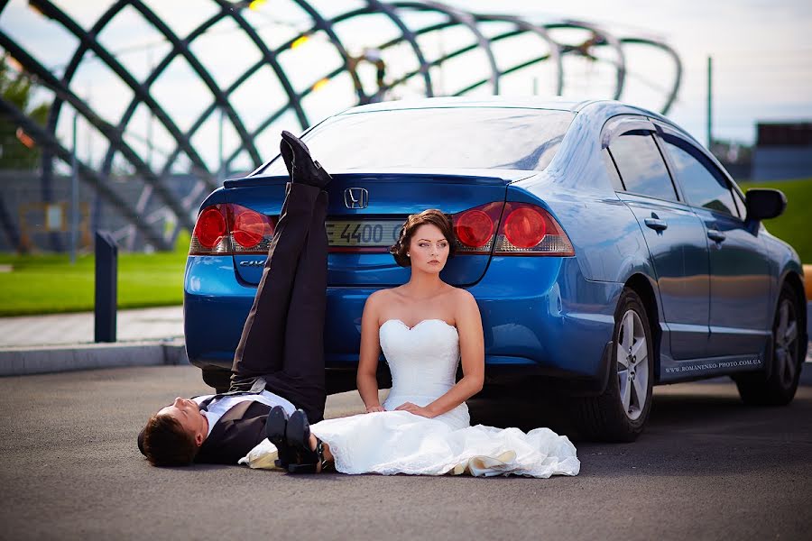
[[[324,417],[324,315],[327,302],[328,194],[289,182],[232,365],[231,389],[257,378],[310,422]]]

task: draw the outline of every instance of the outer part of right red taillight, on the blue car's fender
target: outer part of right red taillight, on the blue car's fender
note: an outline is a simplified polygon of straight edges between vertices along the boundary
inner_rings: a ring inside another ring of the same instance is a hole
[[[494,255],[575,255],[569,237],[555,218],[530,203],[504,204]]]

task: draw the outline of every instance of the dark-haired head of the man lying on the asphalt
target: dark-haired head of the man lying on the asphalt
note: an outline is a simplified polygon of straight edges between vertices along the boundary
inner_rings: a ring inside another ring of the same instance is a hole
[[[194,400],[178,397],[144,426],[138,446],[153,466],[186,466],[208,436],[208,419]]]

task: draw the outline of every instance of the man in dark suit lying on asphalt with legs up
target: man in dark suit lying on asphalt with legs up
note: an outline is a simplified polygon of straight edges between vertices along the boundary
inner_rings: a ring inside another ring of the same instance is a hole
[[[235,351],[231,389],[178,397],[149,418],[138,448],[156,466],[231,463],[265,438],[273,406],[324,417],[323,330],[327,289],[330,176],[307,146],[282,132],[286,186],[254,306]]]

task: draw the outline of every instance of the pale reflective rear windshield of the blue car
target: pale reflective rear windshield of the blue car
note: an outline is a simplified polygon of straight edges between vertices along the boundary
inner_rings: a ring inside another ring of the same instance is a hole
[[[401,109],[338,115],[304,138],[327,170],[544,170],[575,117],[521,108]],[[284,174],[277,157],[263,174]]]

